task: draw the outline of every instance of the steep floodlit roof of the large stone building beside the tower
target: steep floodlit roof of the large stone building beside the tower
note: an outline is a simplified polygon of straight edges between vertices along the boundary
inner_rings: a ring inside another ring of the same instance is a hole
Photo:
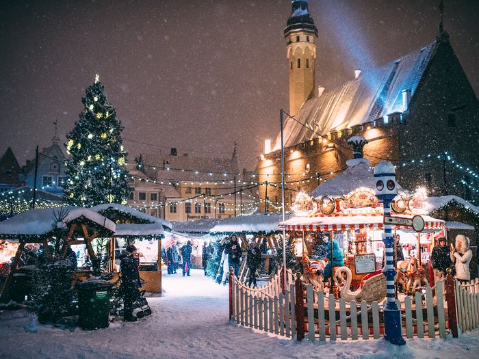
[[[315,133],[303,125],[327,135],[404,111],[402,91],[411,90],[411,97],[414,96],[440,43],[441,39],[436,39],[409,55],[378,68],[363,70],[357,79],[306,101],[295,116],[300,123],[291,119],[285,121],[285,147],[313,139]],[[281,133],[276,137],[273,150],[279,149]]]

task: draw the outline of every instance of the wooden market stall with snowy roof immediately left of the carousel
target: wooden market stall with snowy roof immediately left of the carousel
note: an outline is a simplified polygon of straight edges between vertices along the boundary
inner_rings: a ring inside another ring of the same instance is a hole
[[[278,250],[278,241],[280,232],[279,223],[283,219],[279,214],[258,213],[254,215],[240,215],[237,217],[226,218],[221,220],[210,230],[210,234],[214,236],[231,236],[237,235],[243,250],[243,261],[239,269],[239,280],[244,282],[248,276],[246,268],[246,252],[248,241],[255,241],[261,244],[263,239],[268,242],[268,253],[261,256],[264,259],[265,273],[269,273],[272,258]]]

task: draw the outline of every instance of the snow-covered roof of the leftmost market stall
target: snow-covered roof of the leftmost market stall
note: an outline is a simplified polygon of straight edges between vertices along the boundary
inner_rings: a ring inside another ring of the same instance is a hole
[[[62,222],[57,222],[57,219],[61,216],[64,216]],[[88,219],[101,228],[106,228],[109,232],[115,232],[116,230],[114,222],[92,211],[92,209],[84,207],[31,209],[0,222],[0,238],[12,239],[13,237],[22,236],[26,238],[41,238],[52,230],[62,228],[80,217]]]

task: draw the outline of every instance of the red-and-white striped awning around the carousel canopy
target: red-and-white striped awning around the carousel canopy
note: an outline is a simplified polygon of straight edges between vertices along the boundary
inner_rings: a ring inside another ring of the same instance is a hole
[[[402,215],[401,217],[409,217]],[[412,217],[412,216],[411,216]],[[423,215],[426,222],[424,229],[444,228],[445,222],[436,218]],[[352,216],[324,216],[324,217],[294,217],[279,224],[280,228],[285,230],[315,231],[322,232],[328,230],[357,230],[372,229],[381,230],[384,228],[383,216],[378,215],[352,215]],[[396,228],[405,228],[396,226]]]

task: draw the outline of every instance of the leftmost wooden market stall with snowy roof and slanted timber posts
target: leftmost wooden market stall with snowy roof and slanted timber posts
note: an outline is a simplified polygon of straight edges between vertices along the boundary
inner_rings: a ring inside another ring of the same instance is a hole
[[[18,262],[25,245],[40,243],[46,255],[49,244],[55,252],[66,253],[68,245],[81,244],[86,247],[92,263],[99,263],[92,241],[101,237],[110,237],[116,230],[114,222],[103,215],[83,207],[60,207],[32,209],[0,223],[0,239],[18,243],[16,254],[0,293],[0,301],[8,300],[8,289],[12,278],[18,271]]]

